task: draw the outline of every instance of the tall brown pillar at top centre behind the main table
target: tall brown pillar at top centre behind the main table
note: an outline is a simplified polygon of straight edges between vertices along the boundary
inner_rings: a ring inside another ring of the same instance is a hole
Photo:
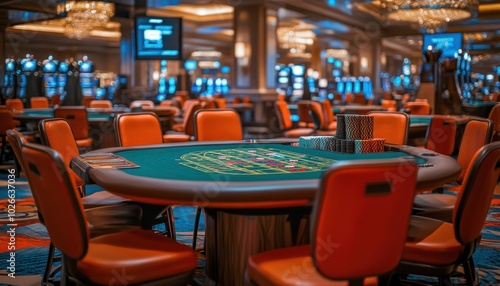
[[[234,84],[230,97],[250,97],[257,125],[271,121],[277,98],[277,10],[263,0],[239,1],[234,7]]]

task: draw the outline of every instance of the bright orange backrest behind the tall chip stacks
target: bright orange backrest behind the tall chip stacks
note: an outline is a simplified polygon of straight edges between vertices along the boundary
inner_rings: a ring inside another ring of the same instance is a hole
[[[373,116],[373,137],[384,138],[389,144],[406,144],[410,117],[404,112],[371,111]]]

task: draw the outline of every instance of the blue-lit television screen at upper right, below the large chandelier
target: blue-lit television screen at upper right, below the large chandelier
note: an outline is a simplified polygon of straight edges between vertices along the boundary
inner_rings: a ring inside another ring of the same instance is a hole
[[[442,58],[453,58],[462,48],[462,33],[424,34],[422,52],[441,50]]]

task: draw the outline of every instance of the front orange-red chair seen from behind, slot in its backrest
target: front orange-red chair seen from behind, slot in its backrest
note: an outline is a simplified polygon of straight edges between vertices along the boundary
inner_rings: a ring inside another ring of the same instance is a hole
[[[405,180],[387,176],[402,166]],[[390,272],[401,258],[416,175],[408,160],[333,164],[313,204],[311,245],[251,256],[248,279],[257,285],[377,285],[374,276]]]

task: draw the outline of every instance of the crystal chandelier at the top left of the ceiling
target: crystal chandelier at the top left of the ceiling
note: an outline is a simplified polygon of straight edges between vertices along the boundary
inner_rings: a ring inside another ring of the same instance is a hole
[[[115,14],[115,4],[101,1],[66,1],[57,5],[57,14],[66,16],[64,34],[83,39],[102,28]]]

